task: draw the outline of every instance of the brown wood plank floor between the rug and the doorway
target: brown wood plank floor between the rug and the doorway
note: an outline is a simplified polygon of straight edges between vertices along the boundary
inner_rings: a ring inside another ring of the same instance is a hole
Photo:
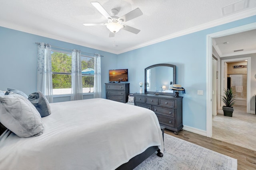
[[[178,135],[167,129],[164,130],[164,133],[235,158],[237,159],[238,170],[256,170],[256,151],[254,150],[184,130],[180,131]]]

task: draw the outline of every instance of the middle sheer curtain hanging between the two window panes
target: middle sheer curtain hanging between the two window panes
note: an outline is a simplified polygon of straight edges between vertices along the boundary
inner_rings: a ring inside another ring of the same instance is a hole
[[[82,65],[81,51],[74,49],[72,51],[72,70],[71,70],[71,97],[70,100],[83,99],[82,87]]]

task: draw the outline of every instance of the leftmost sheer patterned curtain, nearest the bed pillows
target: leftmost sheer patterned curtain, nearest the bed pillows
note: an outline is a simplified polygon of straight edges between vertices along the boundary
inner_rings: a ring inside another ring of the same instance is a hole
[[[49,103],[52,96],[52,55],[51,45],[38,43],[37,90],[42,92]]]

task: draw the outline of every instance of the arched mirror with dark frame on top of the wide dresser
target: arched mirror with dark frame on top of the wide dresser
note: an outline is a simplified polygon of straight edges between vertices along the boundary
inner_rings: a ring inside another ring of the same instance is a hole
[[[145,93],[174,96],[170,88],[176,84],[176,66],[172,64],[154,64],[145,68]]]

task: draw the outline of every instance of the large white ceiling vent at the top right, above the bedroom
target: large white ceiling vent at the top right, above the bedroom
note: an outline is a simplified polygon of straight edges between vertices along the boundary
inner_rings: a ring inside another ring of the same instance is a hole
[[[245,8],[248,8],[248,0],[242,0],[239,2],[236,2],[234,4],[228,5],[223,7],[222,10],[222,15],[228,15],[228,14],[232,14],[234,12],[240,11],[240,10],[244,10]]]

